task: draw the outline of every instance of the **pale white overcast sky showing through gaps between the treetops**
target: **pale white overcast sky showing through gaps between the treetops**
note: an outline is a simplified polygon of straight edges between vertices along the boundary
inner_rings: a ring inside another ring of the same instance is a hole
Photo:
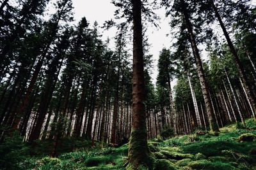
[[[106,20],[113,18],[115,6],[111,3],[111,0],[73,0],[74,4],[74,18],[78,22],[82,17],[93,24],[97,21],[100,26],[104,24]],[[256,4],[256,0],[253,0],[253,4]],[[154,27],[148,29],[148,43],[152,46],[150,48],[150,54],[154,57],[154,70],[152,73],[153,82],[156,82],[157,76],[157,59],[159,52],[163,47],[169,48],[172,45],[172,38],[166,36],[170,33],[170,26],[168,24],[168,18],[164,17],[164,9],[158,10],[157,14],[161,17],[159,21],[159,26],[161,29],[157,30]],[[110,39],[115,36],[115,29],[105,31],[102,34],[102,39],[106,40],[108,37]],[[113,42],[112,42],[113,44]],[[175,82],[172,83],[173,85]]]

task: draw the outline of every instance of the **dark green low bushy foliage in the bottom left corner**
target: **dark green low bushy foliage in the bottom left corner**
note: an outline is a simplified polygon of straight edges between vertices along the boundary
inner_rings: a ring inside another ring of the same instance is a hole
[[[22,142],[22,137],[14,132],[12,136],[4,136],[0,143],[1,169],[19,169],[19,162],[28,157],[28,146]]]

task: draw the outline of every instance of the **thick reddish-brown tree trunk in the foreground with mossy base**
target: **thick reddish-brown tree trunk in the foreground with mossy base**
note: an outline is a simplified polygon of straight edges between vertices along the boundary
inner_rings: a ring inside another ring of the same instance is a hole
[[[141,24],[141,1],[132,0],[133,16],[133,78],[132,78],[132,131],[129,142],[129,167],[150,166],[147,144],[145,113],[145,81],[143,71],[143,47]]]

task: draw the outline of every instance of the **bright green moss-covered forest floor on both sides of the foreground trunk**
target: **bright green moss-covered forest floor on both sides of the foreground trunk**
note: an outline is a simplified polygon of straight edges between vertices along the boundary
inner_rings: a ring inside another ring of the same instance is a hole
[[[152,139],[148,141],[148,146],[154,158],[154,169],[256,169],[256,123],[248,119],[246,124],[247,129],[239,124],[228,125],[221,128],[218,135],[196,131],[166,140]],[[58,158],[40,155],[46,153],[45,144],[41,145],[33,150],[37,155],[25,157],[17,167],[54,170],[125,169],[127,162],[127,144],[100,149],[86,147],[83,143],[84,147],[61,153]],[[79,146],[79,142],[76,145]],[[65,150],[65,146],[61,149]]]

